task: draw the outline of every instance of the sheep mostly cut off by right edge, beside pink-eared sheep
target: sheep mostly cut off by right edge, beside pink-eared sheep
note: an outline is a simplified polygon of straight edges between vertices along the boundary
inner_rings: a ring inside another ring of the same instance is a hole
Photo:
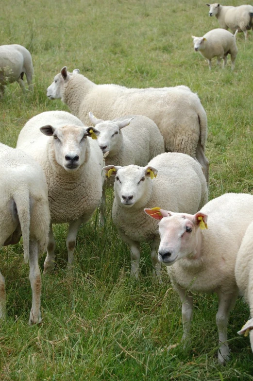
[[[240,294],[249,304],[251,318],[244,324],[238,334],[247,336],[250,333],[253,351],[253,222],[248,226],[236,257],[236,284]]]

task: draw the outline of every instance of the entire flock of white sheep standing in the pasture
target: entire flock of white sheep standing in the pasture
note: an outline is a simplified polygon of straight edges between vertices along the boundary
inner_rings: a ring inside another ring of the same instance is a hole
[[[221,28],[242,31],[247,37],[253,7],[208,6]],[[202,42],[209,42],[209,34],[224,36],[231,44],[220,57],[225,63],[230,52],[234,63],[235,37],[223,29],[211,32],[201,37]],[[201,46],[195,37],[197,42]],[[25,73],[31,85],[32,58],[24,47],[0,46],[0,59],[2,95],[6,77],[24,88]],[[41,321],[38,258],[45,250],[44,274],[54,267],[52,224],[69,224],[66,244],[71,267],[79,227],[99,206],[104,225],[105,188],[114,184],[112,218],[130,248],[131,275],[138,277],[140,243],[150,242],[154,276],[161,281],[161,263],[166,265],[181,299],[185,344],[192,292],[217,293],[218,358],[224,364],[229,359],[229,312],[240,291],[252,319],[238,333],[250,332],[253,350],[253,196],[227,193],[207,202],[207,118],[197,94],[186,86],[96,85],[79,69],[68,72],[64,67],[47,96],[61,99],[71,114],[38,114],[22,128],[17,149],[0,143],[0,247],[19,242],[23,235],[33,291],[29,324]],[[0,317],[4,313],[0,273]]]

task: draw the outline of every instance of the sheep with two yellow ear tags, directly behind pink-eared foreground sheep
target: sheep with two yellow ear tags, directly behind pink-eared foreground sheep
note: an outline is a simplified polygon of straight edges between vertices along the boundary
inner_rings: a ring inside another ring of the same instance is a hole
[[[108,165],[103,170],[107,176],[115,176],[112,218],[130,247],[131,275],[138,278],[140,242],[151,242],[153,275],[156,273],[160,280],[157,224],[143,217],[143,208],[163,205],[175,211],[199,210],[208,199],[200,164],[188,155],[173,152],[154,157],[145,167]]]

